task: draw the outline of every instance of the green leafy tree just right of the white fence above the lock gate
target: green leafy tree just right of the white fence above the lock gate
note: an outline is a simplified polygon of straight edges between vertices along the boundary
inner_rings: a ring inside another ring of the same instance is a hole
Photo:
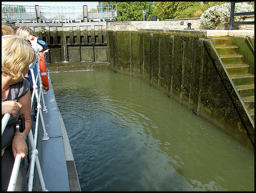
[[[99,2],[99,4],[117,4],[116,22],[143,20],[142,11],[145,10],[149,16],[154,9],[152,2]]]

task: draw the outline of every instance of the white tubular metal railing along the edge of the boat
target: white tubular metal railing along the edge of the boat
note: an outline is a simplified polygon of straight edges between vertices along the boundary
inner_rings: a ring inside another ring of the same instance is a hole
[[[32,191],[33,189],[33,180],[34,180],[34,172],[35,172],[35,166],[37,168],[37,173],[38,173],[38,177],[39,177],[39,181],[40,181],[40,185],[41,185],[41,190],[42,191],[48,191],[45,187],[45,182],[44,182],[44,178],[42,177],[42,172],[41,172],[41,167],[40,167],[40,162],[38,159],[38,150],[36,149],[36,144],[37,144],[37,135],[38,135],[38,123],[39,123],[39,117],[40,117],[40,122],[42,125],[42,130],[43,130],[43,136],[42,136],[42,140],[48,140],[48,134],[46,133],[46,129],[45,129],[45,124],[44,124],[44,117],[42,116],[42,111],[47,111],[46,106],[45,106],[45,101],[44,101],[44,94],[46,94],[46,92],[44,92],[43,86],[42,86],[42,81],[41,81],[41,76],[40,76],[40,68],[39,68],[39,62],[40,62],[40,58],[38,59],[38,62],[36,63],[37,65],[37,76],[35,77],[34,75],[34,71],[33,71],[33,67],[30,68],[30,72],[32,75],[32,82],[33,82],[33,92],[31,95],[31,109],[33,106],[33,101],[34,101],[34,97],[36,98],[36,102],[37,102],[37,114],[36,114],[36,121],[35,121],[35,131],[34,131],[34,138],[33,138],[33,134],[32,134],[32,128],[29,132],[28,135],[28,141],[31,147],[31,158],[30,158],[30,165],[29,165],[29,180],[28,180],[28,191]],[[48,73],[49,76],[49,73]],[[39,90],[37,87],[37,82],[39,81]],[[38,94],[39,91],[39,94]],[[44,106],[44,108],[41,108],[41,102]],[[6,113],[2,119],[2,135],[4,133],[5,127],[9,121],[10,118],[10,114]],[[28,155],[29,156],[29,155]],[[15,161],[14,161],[14,165],[13,165],[13,169],[12,169],[12,174],[11,174],[11,178],[9,181],[9,185],[8,185],[8,189],[7,191],[14,191],[15,189],[15,185],[16,185],[16,181],[17,181],[17,176],[18,176],[18,170],[19,170],[19,166],[20,166],[20,161],[21,161],[21,157],[20,155],[17,153],[16,157],[15,157]]]

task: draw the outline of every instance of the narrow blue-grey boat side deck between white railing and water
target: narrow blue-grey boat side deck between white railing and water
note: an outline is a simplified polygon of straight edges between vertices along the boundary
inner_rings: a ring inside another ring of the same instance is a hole
[[[55,100],[51,80],[42,111],[46,132],[50,139],[41,142],[41,170],[49,191],[81,191],[75,162],[65,125]],[[32,120],[33,121],[33,120]]]

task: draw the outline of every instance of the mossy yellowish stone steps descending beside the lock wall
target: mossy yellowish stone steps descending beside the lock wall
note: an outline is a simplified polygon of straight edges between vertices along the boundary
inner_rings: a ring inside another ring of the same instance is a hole
[[[254,122],[254,75],[231,37],[210,37]]]

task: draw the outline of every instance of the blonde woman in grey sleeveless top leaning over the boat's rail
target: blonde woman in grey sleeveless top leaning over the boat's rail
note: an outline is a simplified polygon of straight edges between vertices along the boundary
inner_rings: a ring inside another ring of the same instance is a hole
[[[24,158],[28,149],[25,139],[31,129],[31,95],[25,75],[35,58],[35,51],[24,39],[15,35],[2,36],[2,117],[5,113],[11,114],[2,135],[2,191],[7,190],[17,153],[22,157],[22,163],[15,190],[27,190]],[[23,133],[16,130],[20,114],[25,114]]]

